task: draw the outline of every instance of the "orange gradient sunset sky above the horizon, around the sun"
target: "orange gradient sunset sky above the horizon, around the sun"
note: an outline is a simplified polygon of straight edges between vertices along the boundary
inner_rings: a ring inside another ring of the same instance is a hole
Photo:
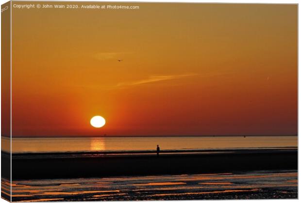
[[[123,4],[13,9],[13,136],[297,134],[297,5]]]

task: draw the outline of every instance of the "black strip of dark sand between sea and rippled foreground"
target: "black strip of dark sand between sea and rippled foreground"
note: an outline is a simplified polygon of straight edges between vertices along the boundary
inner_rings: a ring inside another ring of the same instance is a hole
[[[113,153],[113,152],[112,152]],[[297,170],[298,149],[190,150],[146,154],[29,153],[12,155],[13,180]],[[2,163],[10,154],[1,152]],[[2,177],[5,177],[2,173]]]

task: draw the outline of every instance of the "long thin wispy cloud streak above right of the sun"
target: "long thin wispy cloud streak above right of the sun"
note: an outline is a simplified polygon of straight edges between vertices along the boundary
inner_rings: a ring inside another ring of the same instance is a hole
[[[187,78],[187,77],[192,77],[192,76],[197,76],[197,75],[198,74],[161,75],[161,76],[153,75],[153,76],[150,76],[149,78],[145,78],[145,79],[141,79],[141,80],[136,80],[136,81],[132,81],[132,82],[118,83],[116,85],[116,87],[142,85],[142,84],[154,83],[154,82],[159,82],[159,81],[164,81],[164,80]]]

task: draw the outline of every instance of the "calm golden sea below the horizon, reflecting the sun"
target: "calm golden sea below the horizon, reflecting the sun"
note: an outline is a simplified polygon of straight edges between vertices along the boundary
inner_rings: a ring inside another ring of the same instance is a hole
[[[9,139],[1,138],[9,151]],[[297,136],[13,138],[13,153],[297,147]]]

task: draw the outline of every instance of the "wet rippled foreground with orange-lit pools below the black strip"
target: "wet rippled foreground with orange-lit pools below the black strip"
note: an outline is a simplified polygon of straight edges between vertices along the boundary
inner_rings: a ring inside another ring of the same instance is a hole
[[[296,171],[19,180],[13,201],[116,201],[297,198]],[[9,184],[2,179],[2,192]]]

